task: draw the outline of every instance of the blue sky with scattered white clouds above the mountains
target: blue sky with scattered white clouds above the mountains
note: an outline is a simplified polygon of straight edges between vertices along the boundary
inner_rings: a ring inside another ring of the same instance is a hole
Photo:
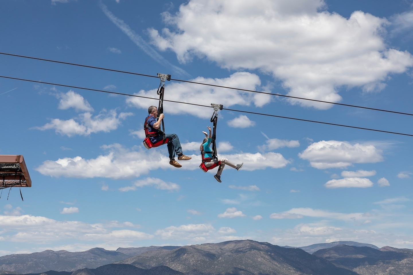
[[[24,201],[2,190],[0,256],[244,239],[413,249],[412,0],[0,7],[0,154],[23,155],[32,180]],[[192,157],[181,168],[142,143],[157,73],[172,78],[165,132]],[[211,103],[218,156],[244,162],[222,183],[198,167]]]

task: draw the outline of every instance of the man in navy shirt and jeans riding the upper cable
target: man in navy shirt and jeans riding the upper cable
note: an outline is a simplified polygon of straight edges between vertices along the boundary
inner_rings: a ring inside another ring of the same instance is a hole
[[[159,119],[156,120],[158,115],[158,108],[156,106],[150,106],[148,108],[148,116],[145,119],[145,127],[147,127],[148,137],[152,143],[157,143],[164,139],[164,132],[159,130],[161,127],[162,119],[164,114],[159,115]],[[175,167],[182,167],[176,160],[175,154],[178,155],[178,160],[190,160],[188,157],[182,153],[182,147],[179,142],[179,138],[176,134],[165,134],[165,139],[168,144],[169,152],[169,164]]]

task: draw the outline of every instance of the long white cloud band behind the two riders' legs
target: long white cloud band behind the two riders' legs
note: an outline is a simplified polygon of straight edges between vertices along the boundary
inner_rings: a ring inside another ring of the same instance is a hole
[[[45,160],[35,170],[45,176],[54,177],[131,179],[147,174],[151,170],[176,169],[169,165],[169,157],[164,153],[163,148],[147,150],[143,146],[135,146],[132,149],[126,149],[118,143],[104,145],[102,148],[108,150],[109,153],[92,159],[76,156]],[[181,170],[199,169],[200,156],[198,154],[190,156],[194,160],[185,162],[180,168]],[[197,157],[199,161],[195,160]],[[266,169],[267,167],[282,168],[290,163],[281,154],[272,152],[220,155],[219,157],[226,157],[234,163],[244,162],[242,170],[246,171]],[[130,188],[133,190],[133,186]]]

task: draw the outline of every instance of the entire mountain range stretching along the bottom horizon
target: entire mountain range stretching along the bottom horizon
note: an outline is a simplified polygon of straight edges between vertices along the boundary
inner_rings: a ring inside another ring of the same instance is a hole
[[[253,240],[116,251],[46,250],[0,257],[0,274],[413,275],[413,250],[357,242],[280,247]]]

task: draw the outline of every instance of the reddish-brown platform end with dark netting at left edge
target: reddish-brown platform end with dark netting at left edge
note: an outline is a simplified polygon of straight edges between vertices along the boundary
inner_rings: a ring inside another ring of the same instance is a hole
[[[0,155],[0,189],[9,187],[31,187],[22,155]]]

